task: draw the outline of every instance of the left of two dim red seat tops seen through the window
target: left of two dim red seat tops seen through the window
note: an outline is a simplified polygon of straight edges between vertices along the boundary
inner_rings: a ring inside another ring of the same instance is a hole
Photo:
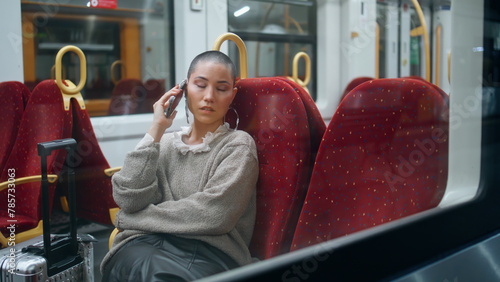
[[[146,89],[138,79],[120,80],[111,92],[108,115],[135,114],[141,99],[146,97]]]

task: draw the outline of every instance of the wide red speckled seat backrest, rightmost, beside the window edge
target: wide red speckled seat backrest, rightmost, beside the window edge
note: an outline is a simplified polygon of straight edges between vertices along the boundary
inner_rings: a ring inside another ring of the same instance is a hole
[[[439,204],[447,106],[427,83],[379,79],[341,102],[321,143],[292,250]]]

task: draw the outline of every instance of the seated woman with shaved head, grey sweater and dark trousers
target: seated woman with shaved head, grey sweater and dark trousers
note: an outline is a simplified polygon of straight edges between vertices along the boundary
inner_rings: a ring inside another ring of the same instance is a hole
[[[179,86],[153,105],[148,134],[113,176],[121,232],[102,262],[103,281],[194,280],[251,263],[258,161],[252,137],[224,122],[235,79],[229,57],[207,51],[188,71],[191,126],[164,135]]]

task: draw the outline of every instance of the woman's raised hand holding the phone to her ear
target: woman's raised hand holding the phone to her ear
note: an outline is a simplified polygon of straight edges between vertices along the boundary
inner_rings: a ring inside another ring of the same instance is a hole
[[[179,89],[179,85],[176,85],[153,104],[153,124],[148,133],[155,139],[155,142],[160,142],[165,130],[172,126],[172,122],[177,114],[177,111],[174,110],[170,117],[167,118],[165,116],[165,109],[169,106],[168,99],[172,96],[181,95],[181,93],[182,90]]]

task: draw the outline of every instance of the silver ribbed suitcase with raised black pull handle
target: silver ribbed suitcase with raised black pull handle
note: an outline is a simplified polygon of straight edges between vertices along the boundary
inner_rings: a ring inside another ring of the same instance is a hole
[[[94,281],[95,239],[76,234],[75,173],[67,165],[70,207],[70,234],[50,234],[49,184],[47,156],[52,151],[66,149],[66,163],[75,160],[74,139],[61,139],[38,144],[42,161],[42,216],[44,234],[40,237],[7,247],[0,251],[0,282],[4,281]],[[43,240],[42,240],[43,237]]]

